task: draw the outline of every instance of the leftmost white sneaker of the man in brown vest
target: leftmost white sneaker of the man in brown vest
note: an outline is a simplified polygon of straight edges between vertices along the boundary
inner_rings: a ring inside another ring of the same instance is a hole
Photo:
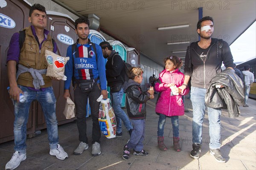
[[[25,159],[26,153],[19,153],[18,151],[16,151],[13,154],[12,159],[9,162],[7,162],[5,169],[14,170],[16,167],[20,165],[20,162],[24,161]]]

